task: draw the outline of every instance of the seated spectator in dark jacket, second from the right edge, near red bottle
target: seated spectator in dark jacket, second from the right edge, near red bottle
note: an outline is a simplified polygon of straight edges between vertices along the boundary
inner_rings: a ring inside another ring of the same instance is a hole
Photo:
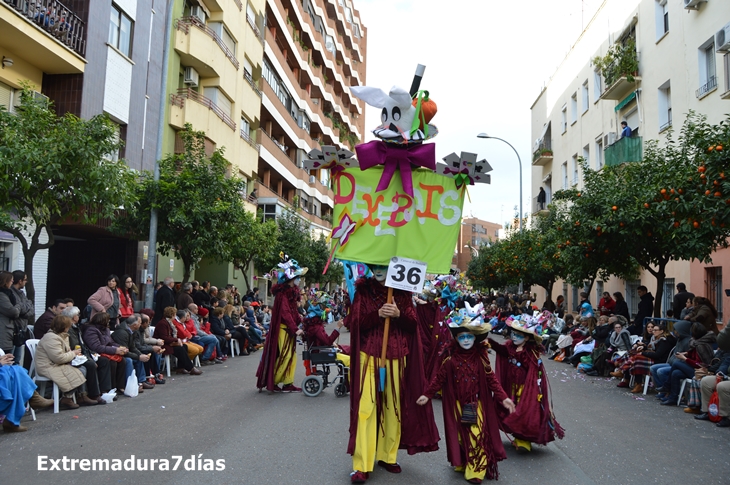
[[[712,362],[713,346],[717,342],[716,335],[699,322],[692,324],[690,334],[692,340],[689,343],[689,349],[687,352],[678,352],[677,360],[672,362],[668,389],[667,384],[664,385],[667,395],[661,400],[662,406],[676,406],[682,381],[692,379],[695,369],[703,365],[709,367]]]

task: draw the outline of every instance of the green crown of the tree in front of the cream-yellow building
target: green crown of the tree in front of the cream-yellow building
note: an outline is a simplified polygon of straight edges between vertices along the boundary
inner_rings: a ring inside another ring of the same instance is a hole
[[[160,160],[160,180],[145,172],[135,188],[136,202],[115,229],[138,239],[149,234],[152,207],[158,210],[157,250],[172,252],[184,267],[183,282],[200,260],[228,262],[241,237],[245,213],[241,194],[246,183],[229,177],[228,161],[218,149],[208,157],[205,134],[185,125],[180,131],[185,150]]]

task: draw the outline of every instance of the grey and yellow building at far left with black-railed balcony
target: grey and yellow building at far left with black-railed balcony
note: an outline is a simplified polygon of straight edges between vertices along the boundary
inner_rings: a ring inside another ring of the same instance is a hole
[[[27,81],[37,96],[53,101],[59,115],[88,119],[106,113],[126,142],[110,156],[151,170],[165,8],[164,0],[0,1],[0,105],[12,111]],[[141,274],[142,245],[110,234],[110,222],[54,228],[55,244],[34,260],[37,315],[49,299],[85,302],[110,273]],[[0,263],[10,270],[24,265],[9,234],[0,233]]]

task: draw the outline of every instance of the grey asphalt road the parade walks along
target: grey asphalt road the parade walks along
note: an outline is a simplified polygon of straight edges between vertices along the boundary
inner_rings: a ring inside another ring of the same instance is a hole
[[[28,416],[23,420],[28,432],[0,432],[0,484],[349,483],[348,398],[335,397],[331,387],[316,398],[258,393],[254,374],[260,355],[204,367],[202,376],[173,375],[133,399],[56,415],[44,410],[35,422]],[[581,376],[551,361],[547,369],[566,437],[517,455],[503,436],[508,459],[499,465],[499,483],[730,483],[730,429],[659,406],[652,394],[637,399],[617,389],[616,380]],[[297,373],[299,383],[301,363]],[[436,401],[434,412],[443,429],[440,406]],[[39,456],[124,461],[132,455],[170,460],[170,468],[174,456],[182,458],[177,471],[38,470]],[[191,455],[196,461],[225,460],[225,469],[186,471]],[[416,456],[401,452],[399,462],[402,474],[376,469],[368,484],[466,483],[448,466],[445,449]]]

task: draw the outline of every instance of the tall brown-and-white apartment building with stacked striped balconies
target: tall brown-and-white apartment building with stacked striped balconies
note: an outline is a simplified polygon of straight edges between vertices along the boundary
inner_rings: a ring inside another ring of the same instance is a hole
[[[256,197],[265,219],[285,209],[329,234],[334,194],[326,170],[302,168],[320,145],[363,140],[367,30],[350,0],[267,0]]]

